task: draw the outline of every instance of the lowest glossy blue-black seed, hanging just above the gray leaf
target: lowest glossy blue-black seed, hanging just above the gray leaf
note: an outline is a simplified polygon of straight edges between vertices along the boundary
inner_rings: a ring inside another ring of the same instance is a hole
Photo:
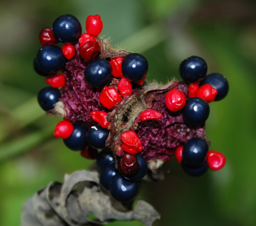
[[[139,182],[125,179],[117,173],[111,180],[109,192],[113,199],[118,202],[130,202],[139,192]]]

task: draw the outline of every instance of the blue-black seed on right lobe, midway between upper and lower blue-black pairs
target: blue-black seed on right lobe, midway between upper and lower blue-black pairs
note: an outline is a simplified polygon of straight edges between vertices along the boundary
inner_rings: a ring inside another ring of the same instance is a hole
[[[204,123],[210,114],[209,104],[199,97],[188,98],[182,110],[184,120],[193,126]]]

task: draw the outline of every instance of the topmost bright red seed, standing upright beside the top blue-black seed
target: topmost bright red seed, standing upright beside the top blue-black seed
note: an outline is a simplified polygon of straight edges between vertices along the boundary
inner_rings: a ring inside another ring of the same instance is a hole
[[[98,36],[103,28],[103,23],[100,19],[100,15],[88,16],[85,22],[85,28],[87,33],[93,36]]]

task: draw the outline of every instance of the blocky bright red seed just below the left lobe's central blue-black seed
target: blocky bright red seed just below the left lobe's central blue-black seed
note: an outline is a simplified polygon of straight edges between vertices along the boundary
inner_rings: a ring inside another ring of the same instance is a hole
[[[99,99],[100,103],[108,109],[113,108],[117,102],[122,100],[118,91],[114,87],[108,86],[102,89]]]

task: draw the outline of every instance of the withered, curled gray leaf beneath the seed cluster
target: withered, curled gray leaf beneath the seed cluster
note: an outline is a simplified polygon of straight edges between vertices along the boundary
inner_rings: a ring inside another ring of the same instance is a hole
[[[23,206],[22,226],[88,226],[113,220],[138,220],[146,226],[160,219],[154,207],[138,200],[134,210],[113,200],[99,185],[97,171],[79,170],[52,182]]]

